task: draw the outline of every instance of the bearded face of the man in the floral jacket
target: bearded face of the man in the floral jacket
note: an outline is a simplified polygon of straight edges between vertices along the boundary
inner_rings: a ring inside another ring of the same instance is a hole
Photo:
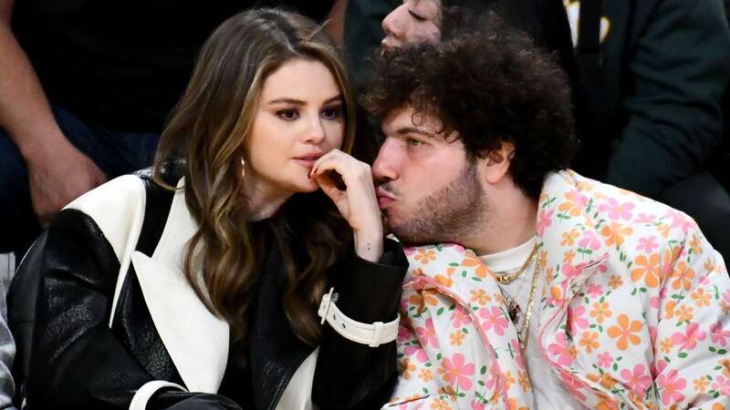
[[[378,203],[406,243],[461,243],[487,217],[478,160],[467,159],[458,135],[441,128],[438,118],[414,116],[410,107],[382,122],[385,141],[372,165]]]

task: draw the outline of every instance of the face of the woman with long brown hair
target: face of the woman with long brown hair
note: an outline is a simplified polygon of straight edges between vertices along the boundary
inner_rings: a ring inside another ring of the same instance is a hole
[[[287,61],[264,82],[244,141],[245,179],[272,193],[318,190],[308,172],[315,160],[341,147],[343,113],[343,96],[328,67],[317,60]]]

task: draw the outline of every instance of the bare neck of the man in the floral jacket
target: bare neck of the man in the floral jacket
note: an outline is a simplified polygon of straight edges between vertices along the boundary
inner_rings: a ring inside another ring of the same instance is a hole
[[[528,198],[514,185],[487,193],[491,212],[485,227],[474,232],[464,246],[479,255],[506,251],[529,241],[535,235],[537,201]]]

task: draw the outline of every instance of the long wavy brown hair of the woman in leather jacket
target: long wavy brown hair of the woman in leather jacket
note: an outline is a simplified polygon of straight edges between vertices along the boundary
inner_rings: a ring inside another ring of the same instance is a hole
[[[340,50],[307,17],[263,8],[234,15],[208,38],[155,158],[158,184],[174,189],[166,177],[171,164],[185,177],[185,201],[200,226],[188,243],[185,272],[208,309],[231,324],[235,343],[246,341],[248,313],[272,243],[287,267],[284,311],[308,344],[321,337],[316,311],[326,272],[344,253],[347,224],[321,191],[295,194],[265,222],[266,230],[249,223],[243,142],[266,78],[293,58],[321,62],[338,82],[346,119],[342,149],[349,152],[355,101]]]

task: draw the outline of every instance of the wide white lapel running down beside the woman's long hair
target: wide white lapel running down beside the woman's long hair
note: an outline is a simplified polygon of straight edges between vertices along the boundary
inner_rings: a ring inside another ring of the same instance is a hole
[[[152,257],[139,251],[131,262],[152,321],[191,392],[216,393],[228,359],[228,323],[210,313],[183,270],[185,246],[197,231],[182,189],[183,179]]]

